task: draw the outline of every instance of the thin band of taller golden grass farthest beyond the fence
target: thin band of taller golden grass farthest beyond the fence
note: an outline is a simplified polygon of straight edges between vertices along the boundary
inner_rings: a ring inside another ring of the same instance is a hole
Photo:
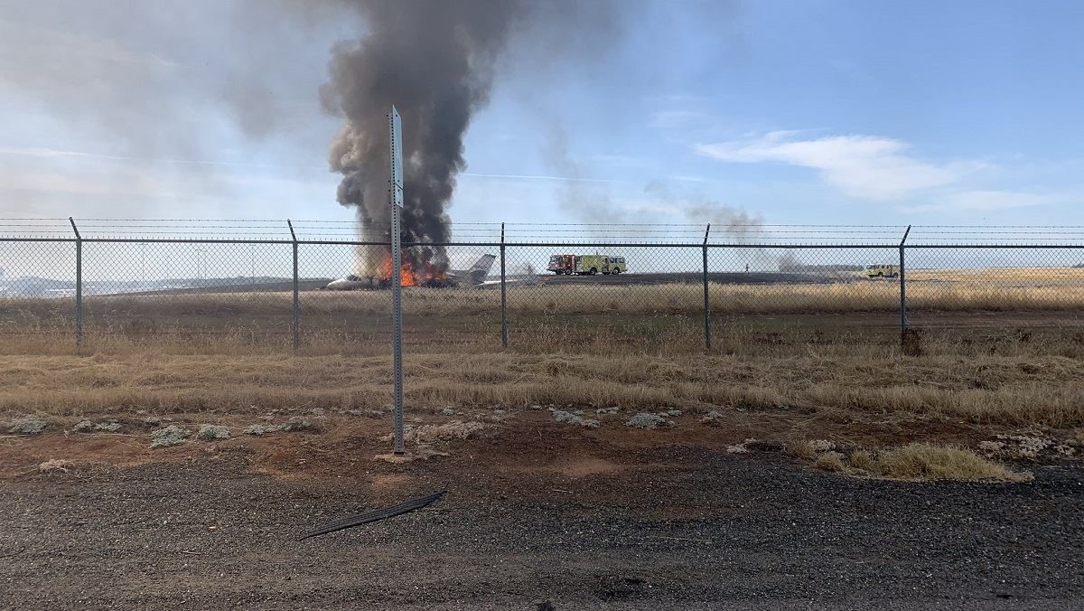
[[[1071,310],[1084,307],[1084,271],[1071,268],[1004,270],[915,270],[908,273],[912,307],[944,310]],[[513,285],[508,311],[516,314],[695,314],[702,307],[697,282],[669,284]],[[122,324],[156,326],[181,319],[230,318],[250,321],[278,317],[287,324],[292,294],[283,291],[191,293],[176,295],[93,295],[89,318]],[[384,317],[386,291],[301,293],[304,316],[314,320]],[[713,282],[711,309],[719,314],[804,314],[885,311],[899,307],[899,283],[847,277],[823,283],[732,284]],[[406,289],[403,311],[410,317],[492,314],[496,290]],[[16,300],[10,321],[47,323],[69,318],[69,300]]]

